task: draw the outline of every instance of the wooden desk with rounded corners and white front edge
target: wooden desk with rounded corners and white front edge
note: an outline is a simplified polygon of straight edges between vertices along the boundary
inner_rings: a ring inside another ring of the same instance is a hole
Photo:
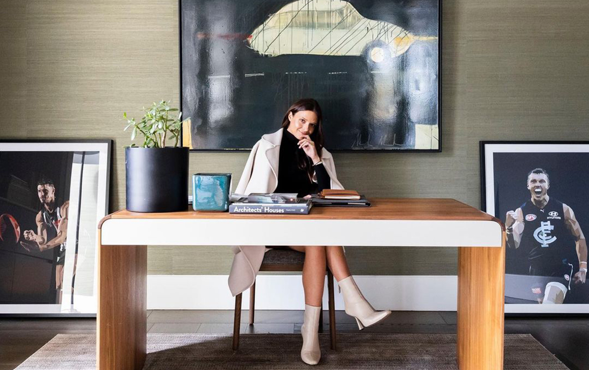
[[[315,207],[309,215],[118,211],[106,216],[98,225],[97,369],[143,368],[147,245],[375,245],[459,247],[459,368],[501,370],[501,222],[454,199],[371,201],[370,208]]]

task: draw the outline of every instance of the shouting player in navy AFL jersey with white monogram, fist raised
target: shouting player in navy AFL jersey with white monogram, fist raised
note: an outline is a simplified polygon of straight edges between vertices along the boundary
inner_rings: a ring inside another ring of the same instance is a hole
[[[548,195],[550,179],[544,169],[530,171],[527,187],[530,200],[505,217],[507,246],[521,248],[530,265],[528,274],[550,277],[538,279],[540,285],[530,287],[538,302],[561,304],[571,289],[571,279],[573,284],[585,284],[587,241],[573,209]],[[572,242],[566,242],[568,236],[575,241],[578,266],[567,259],[573,248]]]

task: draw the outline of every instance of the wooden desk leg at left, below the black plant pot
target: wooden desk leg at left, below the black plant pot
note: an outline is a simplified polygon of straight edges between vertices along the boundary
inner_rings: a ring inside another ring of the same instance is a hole
[[[99,246],[96,368],[140,370],[147,352],[147,246]]]

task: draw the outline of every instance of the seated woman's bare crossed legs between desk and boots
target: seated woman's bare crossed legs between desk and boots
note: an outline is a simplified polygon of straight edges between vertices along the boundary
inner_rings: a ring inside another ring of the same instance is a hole
[[[303,290],[305,291],[305,304],[320,306],[323,298],[323,285],[325,284],[325,265],[337,281],[350,276],[348,262],[343,253],[342,246],[289,246],[295,251],[305,253],[303,265]]]

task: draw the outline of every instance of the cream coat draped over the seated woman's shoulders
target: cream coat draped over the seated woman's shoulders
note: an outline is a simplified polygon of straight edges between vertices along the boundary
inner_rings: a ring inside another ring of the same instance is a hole
[[[237,194],[272,193],[278,186],[278,159],[283,129],[262,136],[252,148],[246,167],[235,192]],[[343,189],[337,181],[332,155],[323,148],[321,161],[331,179],[332,189]],[[317,178],[313,175],[313,181]],[[233,296],[240,294],[256,281],[264,253],[269,251],[265,245],[232,246],[233,264],[229,274],[229,289]]]

